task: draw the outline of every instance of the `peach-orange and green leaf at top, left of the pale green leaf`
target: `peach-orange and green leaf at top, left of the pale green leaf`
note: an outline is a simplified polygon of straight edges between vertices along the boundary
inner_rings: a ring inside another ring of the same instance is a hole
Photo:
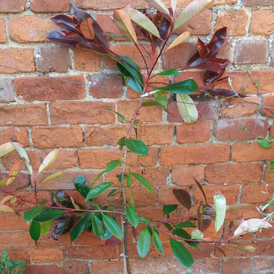
[[[113,19],[118,30],[120,30],[129,41],[136,44],[137,36],[128,14],[122,9],[114,9]]]

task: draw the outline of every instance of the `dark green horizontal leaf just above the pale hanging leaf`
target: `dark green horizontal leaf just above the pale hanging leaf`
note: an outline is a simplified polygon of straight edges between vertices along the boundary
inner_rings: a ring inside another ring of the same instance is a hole
[[[177,94],[191,94],[193,92],[196,92],[198,88],[198,85],[193,79],[186,79],[168,86],[153,87],[153,89],[155,90],[163,90]]]

